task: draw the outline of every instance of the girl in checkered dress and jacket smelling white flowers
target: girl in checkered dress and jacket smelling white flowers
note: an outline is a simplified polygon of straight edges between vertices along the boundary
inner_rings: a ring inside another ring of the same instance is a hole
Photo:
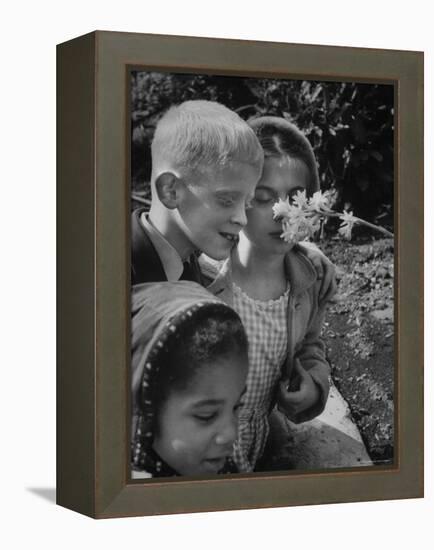
[[[276,405],[295,423],[324,409],[329,365],[320,333],[335,291],[332,264],[327,262],[319,277],[310,259],[315,252],[307,254],[298,244],[319,224],[315,216],[306,217],[296,208],[319,189],[312,147],[285,119],[261,117],[250,126],[264,149],[265,162],[247,225],[228,260],[202,259],[208,290],[234,307],[249,341],[247,392],[234,453],[241,471],[267,470],[273,462],[282,463],[282,456],[264,454],[269,415],[273,409],[277,414]],[[285,203],[286,213],[294,207],[292,222],[283,227],[282,205],[273,212],[279,201]]]

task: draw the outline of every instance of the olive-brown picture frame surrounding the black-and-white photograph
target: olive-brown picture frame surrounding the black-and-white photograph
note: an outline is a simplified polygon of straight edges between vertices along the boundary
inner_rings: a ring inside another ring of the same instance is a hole
[[[393,467],[129,480],[132,67],[393,83]],[[423,54],[96,31],[58,46],[57,101],[57,503],[108,518],[422,497]]]

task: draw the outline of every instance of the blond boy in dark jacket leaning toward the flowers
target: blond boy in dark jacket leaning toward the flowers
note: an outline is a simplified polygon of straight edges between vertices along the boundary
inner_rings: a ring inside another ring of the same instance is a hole
[[[212,101],[186,101],[157,124],[152,204],[132,219],[132,284],[201,282],[197,255],[229,256],[263,167],[253,130]]]

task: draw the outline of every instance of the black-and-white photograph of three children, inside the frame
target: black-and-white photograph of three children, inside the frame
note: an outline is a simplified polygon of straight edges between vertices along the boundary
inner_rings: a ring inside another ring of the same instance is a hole
[[[130,478],[395,464],[395,84],[129,75]]]

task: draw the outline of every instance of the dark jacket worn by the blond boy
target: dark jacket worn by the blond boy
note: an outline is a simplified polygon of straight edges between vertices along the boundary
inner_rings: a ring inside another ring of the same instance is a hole
[[[140,216],[145,209],[139,208],[132,213],[131,220],[131,284],[153,283],[167,281],[158,252],[140,222]],[[181,277],[200,283],[200,268],[195,254],[189,258],[189,273]]]

